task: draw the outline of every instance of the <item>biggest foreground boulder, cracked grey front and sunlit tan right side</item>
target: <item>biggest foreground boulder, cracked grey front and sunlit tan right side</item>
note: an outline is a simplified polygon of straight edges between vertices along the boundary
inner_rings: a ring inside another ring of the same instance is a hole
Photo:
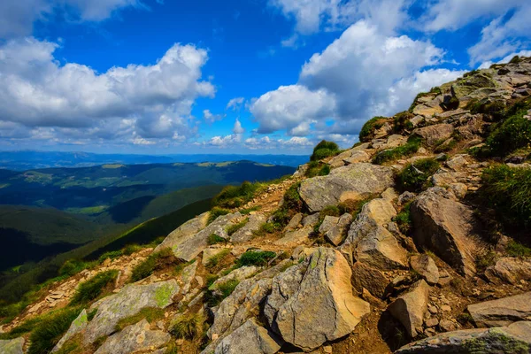
[[[341,253],[326,248],[277,275],[264,309],[273,331],[308,351],[348,335],[370,310],[352,295],[350,275]]]

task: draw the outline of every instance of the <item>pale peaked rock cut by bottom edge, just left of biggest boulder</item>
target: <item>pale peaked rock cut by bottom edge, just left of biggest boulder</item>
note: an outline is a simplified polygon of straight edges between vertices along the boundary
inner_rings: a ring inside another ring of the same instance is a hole
[[[214,351],[215,354],[274,354],[281,350],[281,339],[249,319],[233,333],[223,338]]]

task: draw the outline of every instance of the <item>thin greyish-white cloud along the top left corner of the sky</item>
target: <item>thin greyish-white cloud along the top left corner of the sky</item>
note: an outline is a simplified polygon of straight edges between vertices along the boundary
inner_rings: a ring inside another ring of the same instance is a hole
[[[31,35],[35,20],[60,10],[74,21],[101,21],[126,7],[146,8],[139,0],[3,0],[0,38]]]

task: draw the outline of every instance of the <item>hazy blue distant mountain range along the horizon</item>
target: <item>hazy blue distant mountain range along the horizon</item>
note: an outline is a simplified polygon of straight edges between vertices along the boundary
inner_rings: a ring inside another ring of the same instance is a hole
[[[135,155],[94,154],[89,152],[63,151],[0,151],[0,168],[25,171],[50,167],[88,167],[104,164],[170,164],[175,162],[201,163],[250,160],[261,164],[296,167],[308,162],[305,155]]]

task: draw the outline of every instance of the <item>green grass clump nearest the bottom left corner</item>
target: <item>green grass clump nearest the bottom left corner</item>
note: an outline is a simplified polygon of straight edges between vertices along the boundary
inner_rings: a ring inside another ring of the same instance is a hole
[[[73,320],[81,313],[81,308],[67,307],[42,316],[29,336],[31,343],[28,354],[47,354],[55,347]]]

